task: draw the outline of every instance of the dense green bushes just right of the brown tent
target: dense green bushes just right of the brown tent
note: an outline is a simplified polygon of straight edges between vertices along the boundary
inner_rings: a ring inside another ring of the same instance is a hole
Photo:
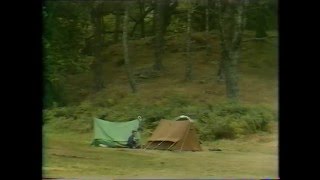
[[[233,139],[245,134],[269,131],[269,124],[274,120],[275,113],[263,106],[220,104],[213,107],[208,118],[199,122],[200,138]]]

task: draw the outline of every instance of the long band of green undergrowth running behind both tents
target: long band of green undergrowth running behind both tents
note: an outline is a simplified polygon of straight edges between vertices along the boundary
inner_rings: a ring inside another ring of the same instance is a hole
[[[111,104],[108,105],[109,101]],[[60,130],[88,132],[92,131],[93,117],[111,121],[128,121],[142,116],[143,127],[152,130],[161,119],[170,120],[179,115],[187,115],[196,120],[200,139],[211,141],[222,138],[234,139],[261,131],[269,132],[270,123],[276,120],[276,113],[264,106],[229,103],[207,107],[196,104],[177,106],[176,101],[172,99],[149,105],[138,101],[123,105],[123,102],[119,104],[111,99],[106,99],[105,103],[104,107],[99,107],[95,103],[82,103],[80,106],[44,111],[44,122],[50,122],[53,124],[50,126]]]

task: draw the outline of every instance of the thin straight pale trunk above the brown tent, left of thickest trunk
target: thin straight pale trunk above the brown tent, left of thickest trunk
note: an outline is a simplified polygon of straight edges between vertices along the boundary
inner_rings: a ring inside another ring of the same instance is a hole
[[[192,13],[192,6],[189,0],[189,9],[188,9],[188,22],[187,22],[187,66],[186,66],[186,81],[190,81],[192,79],[192,58],[190,53],[191,48],[191,13]]]

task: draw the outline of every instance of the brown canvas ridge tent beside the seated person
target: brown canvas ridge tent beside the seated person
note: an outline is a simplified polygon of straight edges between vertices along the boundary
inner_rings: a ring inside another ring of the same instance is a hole
[[[147,149],[201,151],[192,121],[161,120],[146,144]]]

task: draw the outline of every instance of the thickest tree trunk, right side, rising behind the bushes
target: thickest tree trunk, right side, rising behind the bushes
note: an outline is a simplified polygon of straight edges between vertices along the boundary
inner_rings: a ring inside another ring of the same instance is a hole
[[[221,68],[226,78],[226,93],[229,100],[238,102],[238,72],[237,64],[241,50],[241,37],[243,31],[243,3],[244,0],[229,2],[226,5],[227,18],[224,21],[219,1],[219,26],[222,48]]]

